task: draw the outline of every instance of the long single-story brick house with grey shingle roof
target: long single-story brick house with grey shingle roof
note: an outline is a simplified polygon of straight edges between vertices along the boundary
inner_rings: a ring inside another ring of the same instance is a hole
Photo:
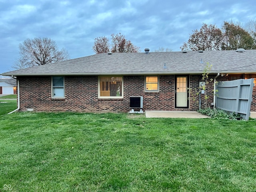
[[[256,78],[256,50],[243,49],[103,53],[2,75],[17,79],[20,111],[129,112],[130,96],[143,97],[143,110],[195,111],[206,62],[217,82]],[[214,94],[207,91],[213,107]]]

